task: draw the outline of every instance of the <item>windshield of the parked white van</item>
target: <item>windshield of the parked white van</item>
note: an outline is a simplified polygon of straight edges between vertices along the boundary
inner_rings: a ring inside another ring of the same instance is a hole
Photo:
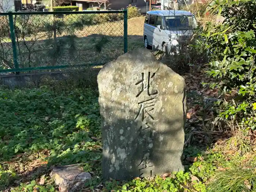
[[[165,16],[167,30],[189,30],[196,27],[193,15]]]

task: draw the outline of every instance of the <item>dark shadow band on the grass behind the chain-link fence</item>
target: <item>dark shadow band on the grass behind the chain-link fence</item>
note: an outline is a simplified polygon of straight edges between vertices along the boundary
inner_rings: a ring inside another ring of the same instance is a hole
[[[56,40],[21,41],[18,62],[21,68],[56,65],[103,65],[124,53],[124,36],[91,34],[85,37],[64,35]],[[143,37],[128,36],[128,50],[143,47]],[[11,42],[1,43],[0,57],[6,66],[12,64]]]

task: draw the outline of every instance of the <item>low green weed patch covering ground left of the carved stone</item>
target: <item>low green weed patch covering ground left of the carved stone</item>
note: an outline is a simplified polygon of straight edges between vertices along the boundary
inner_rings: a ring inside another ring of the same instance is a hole
[[[35,161],[29,157],[38,154],[36,159],[45,159],[48,166],[84,163],[84,170],[98,173],[94,165],[102,152],[97,100],[91,89],[60,95],[45,88],[0,90],[1,162],[18,160],[22,165]],[[11,172],[10,167],[0,170],[1,188],[11,184],[11,177],[24,173]]]

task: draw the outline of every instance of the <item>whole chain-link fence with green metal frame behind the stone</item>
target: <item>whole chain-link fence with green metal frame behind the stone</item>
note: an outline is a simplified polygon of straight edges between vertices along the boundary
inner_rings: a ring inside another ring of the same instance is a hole
[[[127,10],[0,13],[0,72],[103,65],[127,52]]]

